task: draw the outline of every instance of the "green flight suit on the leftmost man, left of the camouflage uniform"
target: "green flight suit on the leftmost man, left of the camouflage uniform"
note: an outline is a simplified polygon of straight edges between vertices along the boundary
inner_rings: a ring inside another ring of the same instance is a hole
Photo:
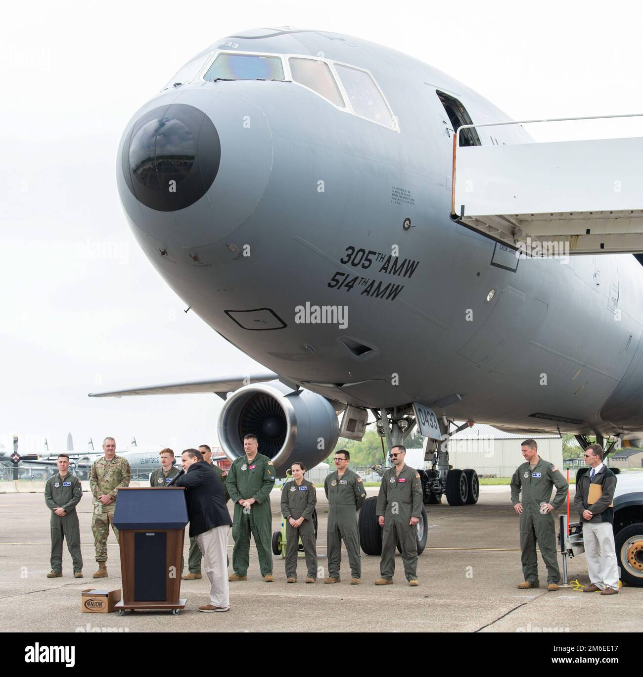
[[[83,498],[81,482],[71,473],[60,477],[56,473],[49,477],[45,485],[45,503],[51,510],[51,571],[62,573],[62,540],[66,540],[67,549],[72,556],[74,573],[83,571],[83,555],[81,554],[81,526],[78,521],[76,505]],[[55,508],[64,508],[67,515],[58,517]]]

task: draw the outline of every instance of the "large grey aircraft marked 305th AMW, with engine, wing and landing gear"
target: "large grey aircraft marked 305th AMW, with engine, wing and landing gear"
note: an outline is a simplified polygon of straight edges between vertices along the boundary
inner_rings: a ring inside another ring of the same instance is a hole
[[[454,420],[583,445],[643,431],[636,258],[516,260],[451,218],[454,131],[509,120],[355,37],[257,28],[204,49],[127,123],[118,193],[160,276],[267,371],[91,395],[216,393],[228,458],[254,433],[280,476],[361,439],[368,412],[389,452],[422,424],[426,504],[477,500],[474,471],[449,467]],[[360,529],[376,554],[372,499]]]

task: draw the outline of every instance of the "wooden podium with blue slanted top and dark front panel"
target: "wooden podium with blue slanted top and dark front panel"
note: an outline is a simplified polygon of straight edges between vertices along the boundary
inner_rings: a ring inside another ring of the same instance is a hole
[[[187,524],[183,487],[118,489],[114,526],[120,540],[120,571],[125,609],[171,609],[178,615],[186,599],[181,592],[181,555]]]

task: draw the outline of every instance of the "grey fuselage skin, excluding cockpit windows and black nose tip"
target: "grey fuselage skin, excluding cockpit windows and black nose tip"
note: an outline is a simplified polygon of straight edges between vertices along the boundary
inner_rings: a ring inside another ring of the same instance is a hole
[[[355,406],[431,406],[458,393],[461,401],[434,405],[436,413],[525,431],[556,430],[535,412],[577,419],[560,428],[579,433],[643,428],[643,271],[634,257],[522,260],[514,272],[491,265],[495,242],[449,217],[452,141],[436,89],[460,100],[474,123],[506,114],[435,68],[353,37],[257,29],[202,54],[215,49],[323,54],[368,70],[399,132],[283,81],[194,81],[139,109],[118,151],[120,198],[152,265],[192,311],[280,376]],[[122,157],[136,121],[170,104],[206,112],[221,161],[200,200],[168,212],[135,199]],[[483,144],[529,139],[506,127],[493,137],[481,131]],[[380,271],[396,244],[400,261],[418,262],[412,275]],[[370,268],[340,263],[351,246],[377,253]],[[389,282],[403,288],[391,299],[371,296],[361,281],[330,288],[338,271],[375,280],[370,292],[377,282],[380,292]],[[349,326],[296,324],[307,302],[348,305]],[[248,322],[269,330],[234,319],[257,309],[269,311]],[[353,354],[345,337],[372,351]]]

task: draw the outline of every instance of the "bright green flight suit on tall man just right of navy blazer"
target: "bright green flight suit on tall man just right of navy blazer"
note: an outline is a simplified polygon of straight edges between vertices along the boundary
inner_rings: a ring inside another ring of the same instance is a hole
[[[234,502],[232,568],[238,576],[248,574],[250,532],[257,546],[261,575],[272,575],[270,492],[274,485],[275,467],[263,454],[257,454],[252,462],[247,456],[240,456],[227,472],[227,490]],[[256,502],[244,508],[239,503],[242,498],[254,498]]]

